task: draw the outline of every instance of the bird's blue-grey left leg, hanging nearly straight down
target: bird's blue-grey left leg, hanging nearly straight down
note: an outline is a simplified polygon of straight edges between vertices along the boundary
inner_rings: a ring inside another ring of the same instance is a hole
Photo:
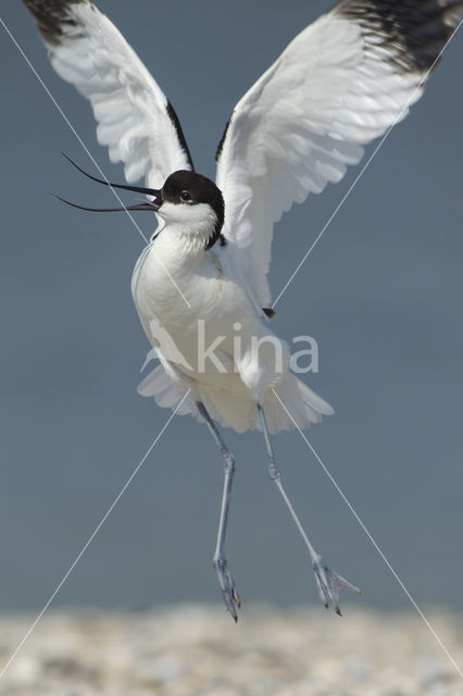
[[[224,464],[224,489],[222,494],[221,518],[218,522],[217,544],[215,546],[215,552],[213,558],[214,568],[217,573],[218,584],[222,589],[222,596],[225,601],[225,606],[230,612],[235,621],[238,621],[237,608],[241,606],[241,601],[236,589],[234,580],[228,572],[227,561],[225,559],[225,535],[227,530],[228,510],[232,499],[232,484],[235,475],[235,460],[233,455],[228,451],[224,440],[221,437],[215,423],[208,413],[205,406],[201,402],[197,402],[198,410],[205,421],[212,437],[215,440],[218,449],[221,450],[223,464]]]

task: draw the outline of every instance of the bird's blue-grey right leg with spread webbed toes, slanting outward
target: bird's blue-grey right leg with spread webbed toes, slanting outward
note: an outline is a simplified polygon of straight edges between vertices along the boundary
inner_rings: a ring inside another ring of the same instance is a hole
[[[312,559],[312,568],[313,568],[313,572],[315,573],[315,580],[316,580],[316,585],[318,588],[321,600],[323,601],[326,608],[328,608],[330,604],[334,607],[336,613],[341,616],[341,611],[339,609],[339,591],[351,589],[352,592],[358,592],[358,593],[360,593],[361,591],[354,585],[351,585],[350,583],[348,583],[347,580],[345,580],[343,577],[341,577],[340,575],[331,571],[328,568],[328,566],[325,563],[321,555],[315,551],[314,547],[310,543],[309,537],[305,534],[305,531],[301,524],[301,521],[296,514],[295,508],[292,507],[291,501],[289,500],[288,496],[286,495],[286,490],[283,487],[281,473],[279,472],[276,465],[275,455],[273,452],[272,444],[268,436],[268,427],[267,427],[267,421],[265,418],[265,412],[260,403],[258,405],[258,410],[259,410],[259,415],[262,423],[262,431],[264,434],[265,447],[268,455],[268,475],[271,480],[275,483],[283,499],[285,500],[286,507],[288,508],[291,514],[291,518],[296,522],[296,526],[298,527],[304,540],[304,544],[309,549],[309,554]]]

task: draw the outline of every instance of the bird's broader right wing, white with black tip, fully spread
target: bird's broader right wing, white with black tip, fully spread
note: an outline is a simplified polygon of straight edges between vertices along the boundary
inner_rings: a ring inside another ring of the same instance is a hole
[[[261,307],[273,225],[339,182],[422,95],[463,3],[343,0],[306,27],[235,108],[217,150],[225,236]]]

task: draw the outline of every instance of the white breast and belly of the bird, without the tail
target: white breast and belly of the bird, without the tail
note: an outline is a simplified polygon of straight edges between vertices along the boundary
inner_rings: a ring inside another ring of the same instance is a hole
[[[275,349],[264,346],[256,355],[252,341],[272,336],[281,346],[284,371],[285,344],[262,323],[234,278],[226,248],[192,254],[185,252],[180,236],[170,233],[161,233],[134,270],[134,301],[148,339],[189,380],[213,389],[262,393],[277,380]],[[201,358],[201,349],[214,343],[220,364]]]

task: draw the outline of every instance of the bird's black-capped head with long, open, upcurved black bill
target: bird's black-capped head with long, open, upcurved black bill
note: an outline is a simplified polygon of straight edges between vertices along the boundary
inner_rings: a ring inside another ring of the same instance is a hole
[[[122,208],[85,208],[58,196],[63,202],[91,212],[139,210],[155,212],[165,221],[166,225],[172,225],[180,233],[200,237],[204,241],[205,249],[210,249],[221,238],[225,219],[225,202],[221,190],[207,176],[187,170],[179,170],[166,178],[162,188],[143,188],[140,186],[111,184],[108,181],[97,178],[84,172],[70,158],[67,159],[79,172],[93,182],[104,184],[111,188],[123,188],[138,194],[146,194],[153,198],[136,206],[124,206]]]

